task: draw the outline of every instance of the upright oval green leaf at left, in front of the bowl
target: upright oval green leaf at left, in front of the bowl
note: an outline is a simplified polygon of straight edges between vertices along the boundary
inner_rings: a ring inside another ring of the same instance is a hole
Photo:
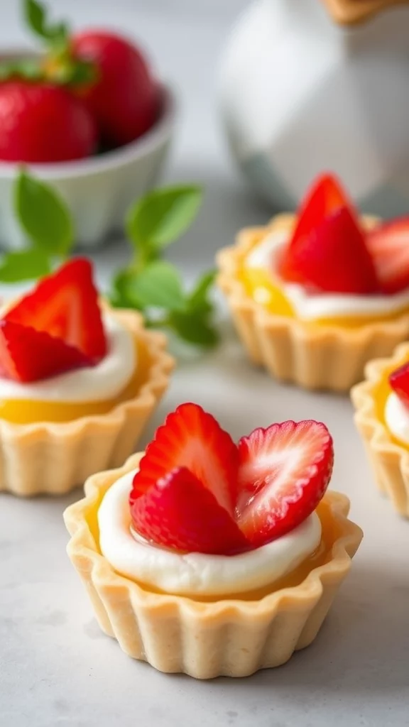
[[[17,177],[14,191],[17,219],[33,244],[50,255],[68,254],[74,228],[60,195],[25,171]]]

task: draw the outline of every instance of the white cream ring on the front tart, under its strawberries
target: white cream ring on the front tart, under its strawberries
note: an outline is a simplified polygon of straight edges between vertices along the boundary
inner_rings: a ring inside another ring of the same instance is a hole
[[[289,534],[239,555],[174,553],[137,540],[130,529],[128,502],[135,471],[117,480],[100,504],[100,550],[122,575],[165,593],[223,596],[274,584],[311,555],[321,540],[316,513]]]

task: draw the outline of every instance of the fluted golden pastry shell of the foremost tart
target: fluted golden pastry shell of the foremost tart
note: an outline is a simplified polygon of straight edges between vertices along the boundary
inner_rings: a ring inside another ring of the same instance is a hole
[[[85,498],[65,510],[68,555],[87,589],[101,629],[123,651],[162,672],[198,679],[242,677],[277,667],[309,646],[346,577],[362,531],[346,518],[349,500],[325,495],[339,533],[327,561],[296,587],[259,601],[199,602],[154,593],[116,573],[99,550],[98,507],[108,488],[138,467],[143,453],[85,484]]]

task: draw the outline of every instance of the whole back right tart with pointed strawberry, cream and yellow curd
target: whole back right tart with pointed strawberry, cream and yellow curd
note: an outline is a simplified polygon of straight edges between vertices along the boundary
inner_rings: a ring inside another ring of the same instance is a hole
[[[409,220],[358,216],[333,175],[296,215],[244,229],[219,284],[252,361],[278,379],[345,391],[409,332]]]

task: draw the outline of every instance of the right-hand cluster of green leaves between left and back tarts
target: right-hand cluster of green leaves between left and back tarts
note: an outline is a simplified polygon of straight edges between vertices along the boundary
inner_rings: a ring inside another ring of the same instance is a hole
[[[126,222],[132,260],[116,273],[110,297],[119,308],[141,310],[148,326],[169,328],[183,340],[207,347],[218,340],[210,300],[215,272],[204,273],[186,291],[178,269],[161,258],[164,248],[191,225],[201,203],[198,186],[181,185],[149,192],[132,206]]]

